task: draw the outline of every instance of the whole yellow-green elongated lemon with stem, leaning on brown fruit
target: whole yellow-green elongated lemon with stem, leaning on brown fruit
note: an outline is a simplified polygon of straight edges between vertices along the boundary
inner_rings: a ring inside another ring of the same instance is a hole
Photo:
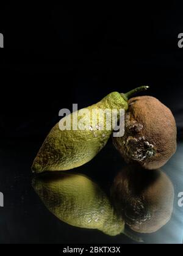
[[[62,125],[70,125],[63,130],[59,122],[52,128],[32,164],[32,171],[69,170],[90,161],[106,145],[113,131],[112,124],[120,119],[121,109],[127,110],[127,99],[147,88],[142,86],[128,93],[109,93],[98,103],[63,117]],[[114,109],[117,110],[114,120],[109,112],[99,114],[99,111]]]

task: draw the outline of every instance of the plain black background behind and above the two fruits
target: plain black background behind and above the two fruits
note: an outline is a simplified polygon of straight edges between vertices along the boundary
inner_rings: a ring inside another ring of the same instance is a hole
[[[149,85],[182,112],[182,5],[1,4],[2,137],[45,137],[61,108]]]

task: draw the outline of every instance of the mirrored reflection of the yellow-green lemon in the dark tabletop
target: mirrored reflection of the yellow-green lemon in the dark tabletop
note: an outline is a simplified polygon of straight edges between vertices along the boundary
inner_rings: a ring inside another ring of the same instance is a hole
[[[48,210],[70,225],[112,236],[124,230],[124,221],[114,213],[106,194],[84,175],[47,174],[35,178],[33,186]]]

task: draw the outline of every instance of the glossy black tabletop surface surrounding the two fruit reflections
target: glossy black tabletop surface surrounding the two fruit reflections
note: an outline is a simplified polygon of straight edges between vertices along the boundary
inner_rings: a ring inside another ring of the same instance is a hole
[[[0,191],[4,207],[0,208],[0,243],[182,243],[183,207],[178,202],[183,191],[183,142],[178,142],[176,153],[161,169],[173,183],[171,219],[156,232],[133,232],[143,242],[123,233],[110,236],[97,229],[74,227],[52,214],[32,187],[35,175],[30,166],[40,144],[23,140],[1,144]],[[125,166],[109,140],[96,158],[70,173],[90,178],[110,198],[113,179]]]

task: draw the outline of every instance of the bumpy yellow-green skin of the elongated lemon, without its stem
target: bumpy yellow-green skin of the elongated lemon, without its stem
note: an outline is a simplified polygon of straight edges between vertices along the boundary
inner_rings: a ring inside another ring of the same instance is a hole
[[[112,92],[86,109],[90,111],[90,114],[93,109],[126,110],[127,102],[120,93]],[[112,130],[93,130],[91,126],[87,130],[72,129],[72,120],[76,117],[77,112],[63,118],[65,121],[71,119],[71,130],[60,130],[59,123],[57,123],[49,132],[32,164],[33,172],[69,170],[82,166],[94,158],[106,145]],[[81,118],[82,116],[77,121],[79,122]],[[91,115],[88,115],[87,119],[91,121]],[[96,120],[100,123],[99,116]],[[107,122],[104,119],[104,128],[106,126]]]

